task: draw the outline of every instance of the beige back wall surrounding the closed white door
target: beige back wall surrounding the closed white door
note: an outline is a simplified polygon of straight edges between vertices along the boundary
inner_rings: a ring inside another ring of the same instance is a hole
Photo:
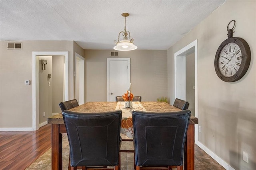
[[[107,58],[114,50],[84,50],[86,58],[86,102],[107,101]],[[167,50],[119,52],[130,58],[132,93],[142,101],[167,96]]]

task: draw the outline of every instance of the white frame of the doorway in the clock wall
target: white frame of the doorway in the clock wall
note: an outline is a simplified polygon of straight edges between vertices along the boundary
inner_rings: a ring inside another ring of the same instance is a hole
[[[198,39],[174,53],[174,98],[186,99],[186,55],[195,54],[195,117],[198,118]],[[179,78],[182,77],[182,80]],[[195,142],[198,142],[198,124],[195,124]]]

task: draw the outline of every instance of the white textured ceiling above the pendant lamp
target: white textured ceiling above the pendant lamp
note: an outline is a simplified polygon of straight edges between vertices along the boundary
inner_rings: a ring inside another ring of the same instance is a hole
[[[113,49],[126,30],[142,50],[166,50],[225,0],[1,0],[0,40],[74,40]]]

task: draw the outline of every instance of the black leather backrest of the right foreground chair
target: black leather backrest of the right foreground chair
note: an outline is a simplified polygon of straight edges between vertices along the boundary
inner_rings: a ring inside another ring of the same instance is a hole
[[[142,112],[134,110],[136,166],[181,166],[190,110]]]

